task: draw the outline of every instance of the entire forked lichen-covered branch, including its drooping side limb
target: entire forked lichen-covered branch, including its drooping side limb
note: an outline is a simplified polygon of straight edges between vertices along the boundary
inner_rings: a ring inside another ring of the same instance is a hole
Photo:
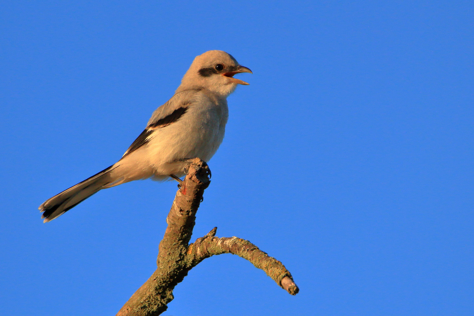
[[[210,170],[207,164],[196,158],[188,175],[176,192],[168,227],[159,245],[157,269],[132,295],[117,316],[157,316],[167,309],[173,300],[173,289],[193,267],[215,254],[233,253],[262,269],[288,293],[295,295],[299,289],[291,273],[282,262],[268,256],[247,240],[237,237],[215,237],[217,227],[207,235],[189,244],[196,220],[196,211],[204,190],[209,186]]]

